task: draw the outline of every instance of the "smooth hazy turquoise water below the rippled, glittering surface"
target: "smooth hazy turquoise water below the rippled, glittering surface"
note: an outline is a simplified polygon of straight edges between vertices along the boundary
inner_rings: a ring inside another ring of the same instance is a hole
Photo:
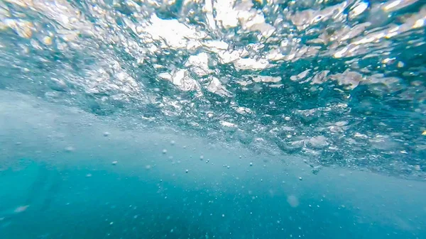
[[[119,128],[2,94],[15,102],[2,105],[2,157],[13,162],[0,174],[2,238],[426,235],[424,182],[339,167],[312,174],[291,155]]]

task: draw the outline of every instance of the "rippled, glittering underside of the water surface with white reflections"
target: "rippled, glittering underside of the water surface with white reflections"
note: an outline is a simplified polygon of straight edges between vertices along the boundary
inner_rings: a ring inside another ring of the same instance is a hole
[[[425,21],[409,0],[7,0],[0,88],[425,179]]]

